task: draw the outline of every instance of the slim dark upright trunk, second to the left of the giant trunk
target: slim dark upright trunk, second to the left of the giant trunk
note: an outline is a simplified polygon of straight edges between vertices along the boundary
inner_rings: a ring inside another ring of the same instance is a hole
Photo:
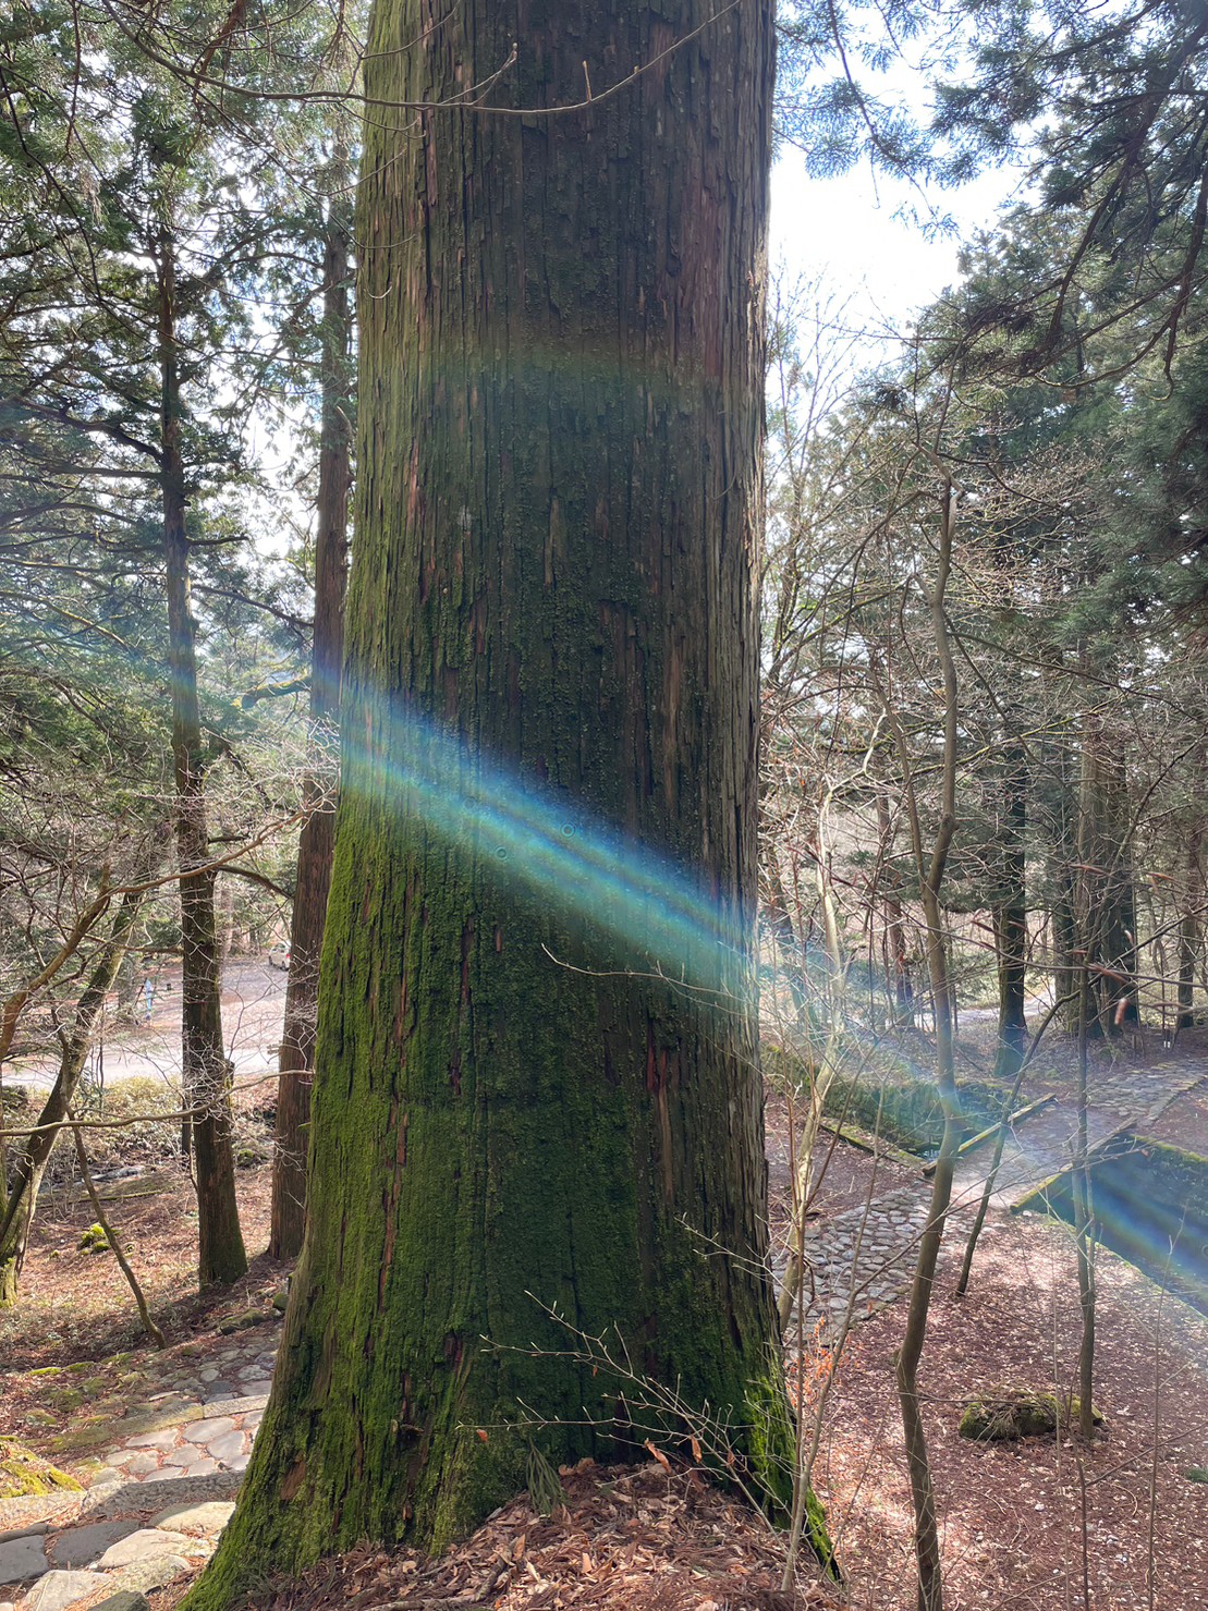
[[[176,847],[180,867],[182,1065],[192,1113],[198,1210],[198,1281],[237,1281],[248,1268],[235,1203],[230,1065],[222,1042],[222,1005],[214,921],[214,873],[208,867],[205,756],[197,696],[197,648],[188,585],[185,469],[176,330],[176,242],[159,232],[161,490],[168,583],[168,661],[172,685],[172,773]]]

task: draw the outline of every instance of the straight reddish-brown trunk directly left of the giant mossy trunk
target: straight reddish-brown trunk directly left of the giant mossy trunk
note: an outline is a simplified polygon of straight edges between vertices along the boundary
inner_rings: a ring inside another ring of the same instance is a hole
[[[345,177],[341,166],[337,184]],[[327,211],[322,322],[322,424],[319,503],[314,538],[314,641],[311,648],[311,743],[327,743],[325,730],[340,710],[340,667],[348,583],[350,430],[350,284],[351,208],[337,192]],[[306,1223],[306,1141],[311,1121],[319,952],[332,883],[335,815],[311,773],[304,785],[309,815],[298,843],[298,886],[290,926],[290,978],[277,1081],[277,1126],[272,1155],[274,1258],[296,1258]]]

